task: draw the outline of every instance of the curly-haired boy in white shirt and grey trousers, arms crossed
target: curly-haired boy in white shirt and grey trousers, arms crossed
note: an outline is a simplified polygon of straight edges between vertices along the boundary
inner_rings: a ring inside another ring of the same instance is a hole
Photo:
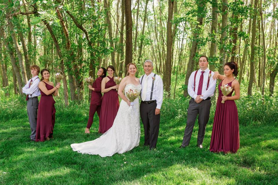
[[[37,127],[37,113],[39,100],[38,96],[41,95],[39,90],[39,72],[40,67],[37,65],[32,65],[30,67],[32,78],[27,82],[27,84],[22,88],[22,92],[26,94],[27,101],[27,113],[31,128],[30,138],[32,141],[36,139],[36,127]]]

